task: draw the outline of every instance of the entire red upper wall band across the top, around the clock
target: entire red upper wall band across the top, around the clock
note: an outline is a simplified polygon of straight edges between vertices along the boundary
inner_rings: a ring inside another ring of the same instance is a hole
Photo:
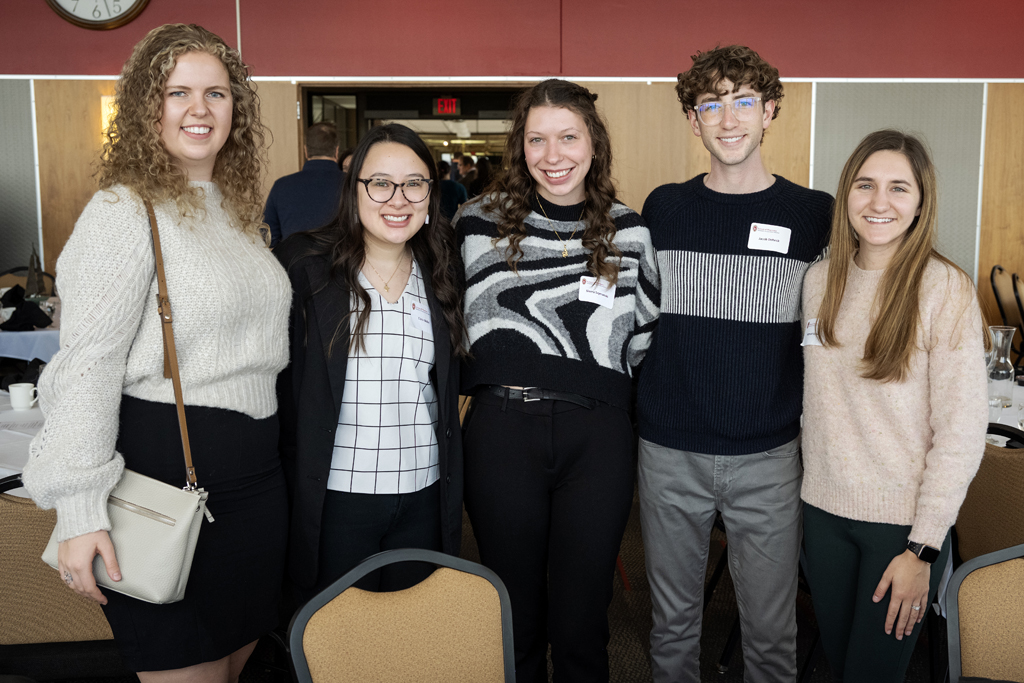
[[[1021,0],[241,0],[241,17],[257,76],[666,77],[745,43],[793,78],[1024,78]],[[114,31],[5,1],[0,74],[115,75],[168,22],[234,44],[233,0],[151,0]]]

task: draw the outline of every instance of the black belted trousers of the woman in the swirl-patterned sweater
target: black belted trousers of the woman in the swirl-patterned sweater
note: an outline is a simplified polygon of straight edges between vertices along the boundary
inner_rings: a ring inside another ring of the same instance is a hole
[[[633,502],[626,411],[478,392],[464,435],[480,559],[512,600],[516,680],[608,680],[608,604]]]

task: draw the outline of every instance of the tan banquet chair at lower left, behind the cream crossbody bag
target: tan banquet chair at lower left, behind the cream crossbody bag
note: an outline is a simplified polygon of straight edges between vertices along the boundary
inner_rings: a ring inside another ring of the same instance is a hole
[[[0,479],[0,672],[36,680],[130,676],[99,605],[71,591],[40,556],[56,514]]]

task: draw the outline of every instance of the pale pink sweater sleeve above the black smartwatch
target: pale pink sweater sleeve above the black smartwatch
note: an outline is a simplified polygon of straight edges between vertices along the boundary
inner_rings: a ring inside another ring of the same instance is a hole
[[[932,447],[925,456],[910,540],[939,548],[985,453],[988,389],[985,330],[974,286],[948,267],[939,268],[933,282],[929,298],[936,303],[926,338]],[[927,286],[926,280],[923,298]]]

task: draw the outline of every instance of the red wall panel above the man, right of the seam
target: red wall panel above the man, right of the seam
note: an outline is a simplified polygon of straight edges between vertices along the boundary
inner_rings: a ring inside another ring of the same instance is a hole
[[[1024,78],[1021,0],[561,1],[569,76],[675,76],[739,43],[791,78]]]

